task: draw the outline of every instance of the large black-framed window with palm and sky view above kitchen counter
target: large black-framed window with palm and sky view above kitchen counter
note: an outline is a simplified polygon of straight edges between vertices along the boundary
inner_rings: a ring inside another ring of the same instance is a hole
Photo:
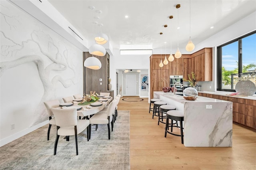
[[[217,68],[218,91],[235,91],[238,75],[256,73],[256,31],[217,47]]]

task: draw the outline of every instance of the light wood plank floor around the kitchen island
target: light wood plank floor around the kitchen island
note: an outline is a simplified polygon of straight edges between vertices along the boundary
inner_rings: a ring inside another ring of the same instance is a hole
[[[164,124],[148,113],[148,98],[123,98],[118,110],[130,110],[131,170],[256,170],[256,132],[233,124],[233,147],[185,147],[179,136],[164,137]]]

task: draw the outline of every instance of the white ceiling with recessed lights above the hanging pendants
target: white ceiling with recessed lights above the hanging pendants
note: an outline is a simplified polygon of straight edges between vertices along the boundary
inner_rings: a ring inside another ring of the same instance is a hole
[[[185,48],[190,36],[189,0],[48,0],[87,40],[92,40],[99,16],[114,49],[120,45]],[[176,4],[181,7],[176,9]],[[89,6],[102,11],[92,12]],[[191,0],[191,38],[198,44],[256,11],[256,0]],[[179,13],[179,17],[178,17]],[[169,16],[174,16],[169,19]],[[125,18],[128,16],[128,18]],[[93,21],[92,21],[93,20]],[[179,22],[179,36],[178,34]],[[167,24],[168,27],[164,28]],[[94,26],[94,29],[93,29]],[[214,28],[210,29],[210,27]],[[160,32],[163,32],[160,35]],[[163,51],[164,52],[164,51]]]

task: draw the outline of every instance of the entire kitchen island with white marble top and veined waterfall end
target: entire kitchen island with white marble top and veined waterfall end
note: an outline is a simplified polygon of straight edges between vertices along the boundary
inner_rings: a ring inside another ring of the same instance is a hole
[[[154,98],[184,111],[184,146],[232,147],[232,102],[201,96],[189,101],[160,91]]]

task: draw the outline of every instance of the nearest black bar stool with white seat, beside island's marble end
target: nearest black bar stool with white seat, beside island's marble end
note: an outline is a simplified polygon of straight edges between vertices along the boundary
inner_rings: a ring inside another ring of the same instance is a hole
[[[171,119],[171,125],[169,125],[169,119]],[[173,121],[177,121],[176,126],[173,126]],[[178,121],[180,121],[180,126],[178,126]],[[182,121],[184,121],[184,113],[182,111],[177,111],[177,110],[167,111],[164,137],[166,137],[166,133],[169,133],[169,134],[172,134],[172,135],[175,135],[175,136],[180,136],[181,137],[181,143],[183,144],[183,136],[184,135],[183,135]],[[170,132],[168,131],[168,127],[171,127]],[[172,133],[172,127],[180,128],[180,134]]]

